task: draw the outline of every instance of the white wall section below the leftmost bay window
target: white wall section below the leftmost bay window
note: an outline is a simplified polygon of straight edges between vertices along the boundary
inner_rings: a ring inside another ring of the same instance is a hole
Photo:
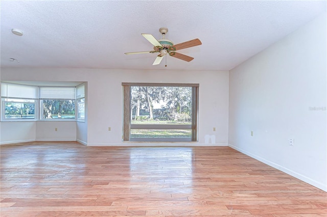
[[[35,141],[35,121],[0,122],[0,144],[22,143]]]

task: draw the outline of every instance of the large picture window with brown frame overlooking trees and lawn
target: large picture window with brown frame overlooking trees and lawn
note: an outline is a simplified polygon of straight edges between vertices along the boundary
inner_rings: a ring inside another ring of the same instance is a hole
[[[122,85],[124,141],[197,141],[198,84]]]

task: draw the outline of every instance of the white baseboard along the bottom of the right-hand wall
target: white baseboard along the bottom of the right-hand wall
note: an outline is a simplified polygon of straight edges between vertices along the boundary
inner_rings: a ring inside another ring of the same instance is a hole
[[[237,150],[237,151],[239,151],[239,152],[241,152],[243,154],[246,154],[246,155],[248,155],[248,156],[250,156],[250,157],[252,157],[254,159],[257,159],[257,160],[263,162],[264,164],[269,165],[270,167],[273,167],[273,168],[275,168],[277,170],[280,170],[280,171],[282,171],[284,173],[287,173],[287,174],[289,174],[289,175],[291,175],[291,176],[293,176],[293,177],[295,177],[297,179],[300,179],[301,181],[307,182],[308,184],[311,184],[311,185],[313,185],[313,186],[321,189],[322,191],[327,192],[327,186],[324,185],[321,182],[317,182],[317,181],[315,181],[315,180],[313,180],[313,179],[311,179],[311,178],[309,178],[307,176],[304,176],[302,174],[299,174],[299,173],[297,173],[295,171],[292,171],[292,170],[290,170],[288,168],[285,168],[285,167],[283,167],[281,165],[275,164],[274,162],[271,162],[269,160],[266,160],[265,158],[262,158],[260,156],[255,155],[255,154],[252,154],[250,152],[247,152],[247,151],[245,151],[245,150],[243,150],[243,149],[241,149],[239,147],[233,146],[231,144],[228,144],[228,146],[230,148],[235,149],[235,150]]]

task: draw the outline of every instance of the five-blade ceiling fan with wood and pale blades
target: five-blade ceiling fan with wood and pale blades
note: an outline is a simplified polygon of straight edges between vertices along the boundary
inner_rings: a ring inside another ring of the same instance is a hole
[[[191,60],[194,59],[193,57],[189,57],[189,56],[183,55],[183,54],[175,52],[175,51],[185,49],[185,48],[188,48],[188,47],[198,46],[198,45],[202,44],[199,39],[193,39],[191,41],[185,41],[183,43],[174,45],[174,43],[172,41],[165,39],[165,35],[168,32],[168,29],[166,27],[160,28],[159,32],[162,34],[162,39],[159,39],[159,40],[155,39],[154,36],[151,35],[151,34],[141,34],[143,37],[145,37],[154,46],[153,50],[151,50],[151,51],[140,51],[140,52],[127,52],[125,54],[126,55],[132,55],[132,54],[139,54],[139,53],[156,53],[156,52],[158,52],[159,55],[154,60],[152,65],[160,64],[161,60],[167,54],[169,54],[169,56],[171,56],[171,57],[175,57],[175,58],[178,58],[180,60],[190,62]]]

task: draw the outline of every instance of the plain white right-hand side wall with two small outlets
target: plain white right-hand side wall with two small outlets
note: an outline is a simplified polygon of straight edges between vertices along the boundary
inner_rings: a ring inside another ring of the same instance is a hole
[[[324,191],[326,60],[324,14],[230,70],[228,136],[230,147]]]

